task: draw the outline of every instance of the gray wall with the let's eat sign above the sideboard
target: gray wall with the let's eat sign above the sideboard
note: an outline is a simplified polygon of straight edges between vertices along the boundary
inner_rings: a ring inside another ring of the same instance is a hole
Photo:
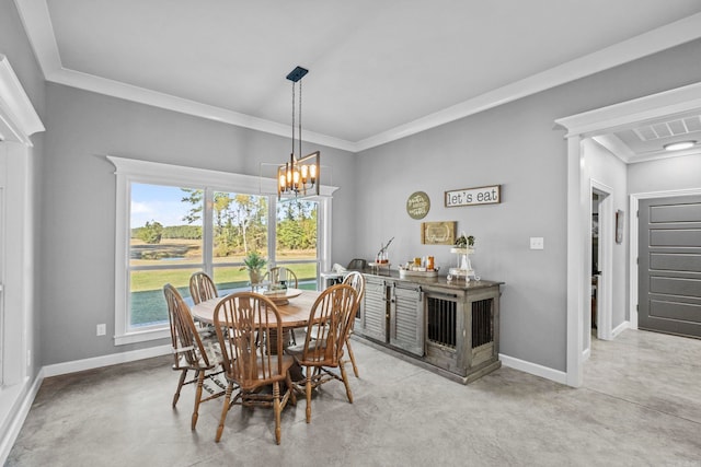
[[[475,270],[505,282],[502,353],[565,371],[567,149],[553,122],[701,81],[699,62],[697,40],[360,153],[358,254],[372,257],[397,236],[393,264],[433,254],[452,265],[448,247],[421,245],[421,221],[405,212],[407,196],[426,191],[424,221],[458,221],[476,237]],[[502,185],[498,206],[444,207],[445,190],[493,184]],[[530,250],[530,236],[545,248]]]

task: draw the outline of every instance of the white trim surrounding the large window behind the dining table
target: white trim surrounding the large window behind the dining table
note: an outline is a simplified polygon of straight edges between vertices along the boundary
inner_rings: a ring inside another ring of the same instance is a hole
[[[170,338],[168,326],[158,329],[129,331],[128,328],[128,254],[131,183],[208,187],[230,192],[272,195],[277,192],[277,180],[252,175],[231,174],[206,168],[186,167],[158,162],[107,155],[116,167],[116,235],[115,235],[115,346]],[[327,268],[331,258],[331,196],[337,187],[320,187],[320,211],[323,220],[320,242],[321,267]]]

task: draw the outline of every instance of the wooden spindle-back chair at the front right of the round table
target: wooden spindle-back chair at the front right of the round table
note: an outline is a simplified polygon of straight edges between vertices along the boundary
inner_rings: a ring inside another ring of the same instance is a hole
[[[336,284],[324,290],[309,314],[304,343],[287,348],[288,354],[304,370],[304,378],[295,382],[295,389],[303,388],[307,398],[307,423],[311,421],[311,392],[330,381],[343,382],[348,402],[353,393],[343,360],[343,348],[353,319],[358,293],[348,284]],[[332,369],[341,370],[341,376]]]

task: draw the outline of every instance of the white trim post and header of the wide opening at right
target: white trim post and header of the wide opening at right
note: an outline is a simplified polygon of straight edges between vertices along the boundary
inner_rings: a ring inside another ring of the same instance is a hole
[[[586,296],[590,279],[585,272],[590,266],[587,266],[588,248],[587,242],[584,242],[584,238],[589,235],[590,192],[587,180],[584,179],[582,141],[639,121],[697,109],[701,109],[701,82],[555,120],[556,125],[566,130],[567,139],[567,367],[565,380],[570,386],[582,386],[584,380],[582,326],[583,313],[590,300]],[[631,209],[631,212],[635,211]],[[637,314],[635,319],[637,322]]]

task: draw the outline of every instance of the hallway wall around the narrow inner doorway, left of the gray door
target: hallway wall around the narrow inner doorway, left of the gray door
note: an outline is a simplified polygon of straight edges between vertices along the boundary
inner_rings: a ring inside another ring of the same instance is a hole
[[[602,148],[591,139],[585,139],[584,161],[585,177],[587,180],[594,179],[612,188],[613,197],[612,210],[624,212],[624,234],[622,243],[613,243],[612,248],[612,278],[611,278],[611,325],[616,329],[623,322],[630,319],[629,316],[629,235],[630,232],[630,212],[628,209],[628,168],[623,161],[613,155],[610,151]],[[614,220],[610,220],[609,225],[616,226]],[[601,232],[599,236],[612,235],[616,231]],[[584,329],[586,332],[587,330]]]

